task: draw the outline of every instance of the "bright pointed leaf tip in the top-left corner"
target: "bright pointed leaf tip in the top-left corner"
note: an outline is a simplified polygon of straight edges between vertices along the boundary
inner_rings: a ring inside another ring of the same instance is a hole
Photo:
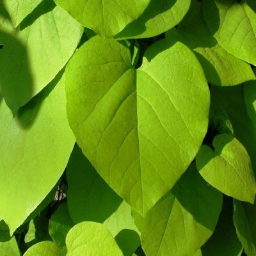
[[[35,10],[42,0],[3,0],[6,9],[10,13],[15,28],[24,20],[29,13]]]

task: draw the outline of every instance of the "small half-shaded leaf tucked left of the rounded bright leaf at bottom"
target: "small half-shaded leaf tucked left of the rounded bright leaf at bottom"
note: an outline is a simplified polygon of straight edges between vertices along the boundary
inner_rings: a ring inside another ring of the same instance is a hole
[[[52,241],[57,244],[60,251],[67,252],[65,239],[70,228],[74,226],[74,222],[71,220],[67,203],[61,204],[56,211],[53,212],[49,221],[49,234],[52,237]]]

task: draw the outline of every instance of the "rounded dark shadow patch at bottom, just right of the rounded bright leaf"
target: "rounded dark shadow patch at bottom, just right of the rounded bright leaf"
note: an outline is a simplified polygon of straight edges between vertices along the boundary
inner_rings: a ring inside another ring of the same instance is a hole
[[[115,237],[116,243],[124,253],[124,256],[131,256],[140,246],[140,236],[130,229],[121,230]]]

